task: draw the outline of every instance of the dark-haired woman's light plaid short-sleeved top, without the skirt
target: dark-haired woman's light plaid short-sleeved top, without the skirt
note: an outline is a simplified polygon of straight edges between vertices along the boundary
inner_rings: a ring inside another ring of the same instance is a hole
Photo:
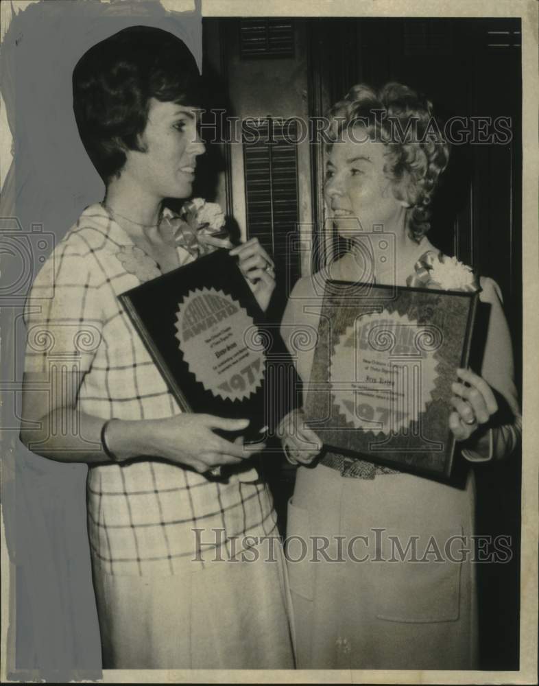
[[[180,414],[163,377],[117,296],[139,285],[117,253],[132,245],[100,205],[89,206],[40,271],[25,307],[27,372],[51,364],[84,375],[77,407],[125,420]],[[178,248],[180,263],[193,256]],[[41,299],[51,281],[53,298]],[[211,548],[248,536],[276,535],[267,486],[226,483],[161,460],[91,466],[87,479],[88,536],[93,560],[113,574],[173,574]],[[195,536],[193,529],[202,529]],[[214,532],[213,530],[217,530]],[[221,534],[221,531],[224,533]],[[223,556],[224,549],[222,551]]]

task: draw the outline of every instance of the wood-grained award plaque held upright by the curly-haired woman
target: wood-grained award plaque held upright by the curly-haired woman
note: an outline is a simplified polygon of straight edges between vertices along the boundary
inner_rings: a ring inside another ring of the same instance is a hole
[[[457,368],[466,367],[477,292],[328,281],[307,385],[324,445],[448,480]]]

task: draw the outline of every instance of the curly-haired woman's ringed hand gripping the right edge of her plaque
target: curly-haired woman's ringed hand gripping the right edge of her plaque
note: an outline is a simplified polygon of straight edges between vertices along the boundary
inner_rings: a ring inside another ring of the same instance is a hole
[[[498,411],[498,403],[488,383],[469,369],[457,369],[462,383],[455,381],[451,390],[455,396],[451,405],[455,408],[449,415],[449,428],[457,440],[467,440],[480,425],[490,421]]]

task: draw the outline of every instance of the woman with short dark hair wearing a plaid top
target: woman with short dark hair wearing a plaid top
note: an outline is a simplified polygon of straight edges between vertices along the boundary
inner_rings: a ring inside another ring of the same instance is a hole
[[[52,460],[88,464],[108,669],[294,666],[283,552],[276,545],[266,561],[256,546],[241,547],[246,534],[277,535],[269,490],[247,459],[263,445],[215,431],[241,431],[247,420],[182,414],[118,300],[201,247],[232,248],[207,237],[193,245],[165,206],[191,196],[204,154],[200,83],[187,47],[160,29],[124,29],[82,56],[75,117],[105,198],[58,244],[25,310],[21,439]],[[265,309],[272,260],[258,241],[230,252]],[[53,297],[40,300],[49,283]],[[77,364],[55,366],[62,356]],[[36,390],[55,370],[56,391]],[[226,481],[211,476],[221,465]]]

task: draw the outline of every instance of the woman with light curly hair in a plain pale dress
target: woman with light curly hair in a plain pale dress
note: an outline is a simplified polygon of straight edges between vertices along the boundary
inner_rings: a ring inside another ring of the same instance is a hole
[[[427,238],[449,152],[431,103],[401,84],[379,92],[360,84],[331,118],[324,192],[348,250],[298,281],[283,318],[285,340],[291,327],[318,330],[320,286],[328,278],[421,285],[420,274],[431,269],[435,287],[459,289],[472,276]],[[389,239],[370,241],[376,226],[394,239],[395,259]],[[479,300],[490,309],[484,348],[472,360],[475,370],[455,370],[451,386],[449,427],[468,462],[504,458],[520,436],[500,289],[488,278],[480,285]],[[294,356],[309,381],[313,350],[294,349]],[[299,464],[287,528],[298,667],[477,668],[472,470],[459,488],[374,464],[368,455],[322,451],[301,411],[287,416],[283,433],[289,460]],[[296,537],[307,552],[292,551]]]

